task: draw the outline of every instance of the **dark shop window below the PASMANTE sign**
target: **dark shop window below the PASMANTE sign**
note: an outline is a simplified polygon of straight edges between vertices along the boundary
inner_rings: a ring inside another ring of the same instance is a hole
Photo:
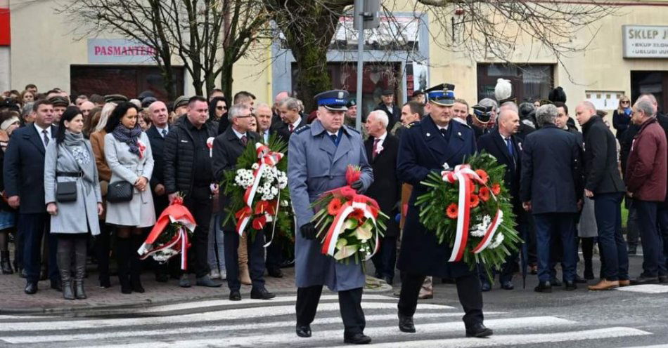
[[[184,94],[184,68],[173,67],[176,95]],[[155,98],[167,100],[162,74],[158,67],[132,65],[72,65],[70,67],[72,95],[122,94],[136,98],[151,91]]]

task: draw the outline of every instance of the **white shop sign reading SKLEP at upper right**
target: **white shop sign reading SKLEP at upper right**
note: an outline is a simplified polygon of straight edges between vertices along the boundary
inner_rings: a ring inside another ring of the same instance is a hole
[[[622,25],[624,58],[668,58],[668,26]]]

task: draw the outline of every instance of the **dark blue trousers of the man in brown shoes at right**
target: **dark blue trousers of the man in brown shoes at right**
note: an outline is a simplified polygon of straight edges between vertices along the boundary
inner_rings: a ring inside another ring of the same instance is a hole
[[[608,281],[629,279],[629,254],[622,237],[622,195],[619,192],[593,197],[603,277]]]

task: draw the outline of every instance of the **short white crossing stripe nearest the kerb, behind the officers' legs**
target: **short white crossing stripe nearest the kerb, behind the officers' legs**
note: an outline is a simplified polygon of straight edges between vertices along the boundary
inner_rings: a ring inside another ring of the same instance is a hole
[[[320,300],[338,300],[338,295],[322,295]],[[362,301],[366,300],[394,300],[395,297],[389,297],[384,295],[363,295]],[[230,301],[230,300],[208,300],[208,301],[198,301],[198,302],[187,302],[179,304],[165,304],[155,307],[149,307],[146,309],[136,310],[134,313],[146,314],[146,313],[158,313],[158,312],[174,312],[181,311],[185,309],[198,309],[198,308],[210,308],[210,307],[224,307],[224,306],[238,306],[240,304],[252,304],[252,303],[262,303],[262,304],[276,304],[282,302],[292,302],[297,301],[297,296],[279,296],[274,297],[273,300],[257,300],[257,299],[244,299],[243,301]],[[453,308],[444,306],[444,308]]]

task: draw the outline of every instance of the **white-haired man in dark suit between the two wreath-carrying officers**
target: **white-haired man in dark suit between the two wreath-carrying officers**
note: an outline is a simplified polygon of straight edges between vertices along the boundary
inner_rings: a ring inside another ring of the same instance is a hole
[[[397,215],[397,202],[401,199],[401,189],[397,178],[397,152],[399,139],[387,132],[387,115],[380,110],[371,112],[366,118],[366,133],[369,138],[364,142],[366,158],[373,168],[373,184],[366,195],[375,199],[380,211],[385,215]],[[380,250],[373,255],[375,276],[392,285],[394,265],[397,263],[397,236],[399,225],[390,218],[387,221],[385,236],[380,241]]]

